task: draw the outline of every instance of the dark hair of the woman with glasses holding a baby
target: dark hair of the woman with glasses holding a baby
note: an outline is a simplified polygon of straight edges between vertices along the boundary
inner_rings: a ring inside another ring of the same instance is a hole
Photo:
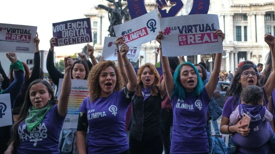
[[[227,93],[226,93],[227,98],[230,96],[235,96],[233,101],[233,107],[237,106],[236,103],[238,102],[241,95],[241,91],[243,90],[241,83],[238,82],[241,79],[241,73],[250,68],[253,68],[255,72],[257,72],[257,69],[252,64],[244,64],[241,67],[239,67],[236,72],[236,75],[233,77],[233,80],[231,82],[229,89],[227,90]],[[260,86],[258,81],[259,81],[259,76],[257,76],[256,86]]]

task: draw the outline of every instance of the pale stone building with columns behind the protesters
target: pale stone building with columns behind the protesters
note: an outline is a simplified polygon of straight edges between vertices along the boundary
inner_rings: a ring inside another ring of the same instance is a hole
[[[145,2],[148,12],[153,9],[158,11],[155,0]],[[193,0],[183,0],[184,6],[178,16],[188,15],[192,2]],[[123,7],[127,5],[127,2],[122,3]],[[99,4],[114,7],[106,0],[99,0]],[[168,3],[164,9],[169,10],[170,7]],[[243,60],[265,65],[269,47],[264,42],[264,35],[275,34],[274,0],[210,0],[208,14],[219,16],[220,29],[226,34],[223,41],[222,70],[233,72],[237,64]],[[129,13],[127,15],[131,19]],[[85,16],[91,18],[95,55],[98,56],[102,53],[104,37],[109,34],[108,12],[95,6],[85,13]],[[123,19],[123,22],[126,21]],[[142,65],[146,62],[155,64],[158,46],[155,40],[142,44],[138,64]],[[207,64],[207,70],[211,71],[211,55],[184,56],[184,58],[194,64],[204,61]]]

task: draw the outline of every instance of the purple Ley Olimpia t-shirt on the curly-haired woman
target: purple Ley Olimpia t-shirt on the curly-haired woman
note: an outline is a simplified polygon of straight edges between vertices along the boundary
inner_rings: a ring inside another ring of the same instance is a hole
[[[87,113],[89,137],[87,153],[122,153],[129,149],[125,132],[125,116],[129,104],[123,90],[114,91],[108,97],[89,101],[86,97],[79,111]]]

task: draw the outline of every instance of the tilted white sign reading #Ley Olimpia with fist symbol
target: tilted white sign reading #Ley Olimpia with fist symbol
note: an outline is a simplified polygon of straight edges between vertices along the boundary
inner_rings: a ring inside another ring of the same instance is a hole
[[[153,10],[126,23],[114,26],[114,30],[115,36],[123,36],[125,43],[130,47],[138,46],[156,38],[160,31],[160,19],[156,10]]]

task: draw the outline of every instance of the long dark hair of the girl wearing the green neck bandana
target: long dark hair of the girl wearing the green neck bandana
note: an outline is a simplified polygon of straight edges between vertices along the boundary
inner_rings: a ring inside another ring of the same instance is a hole
[[[32,102],[30,100],[30,88],[35,85],[35,84],[38,84],[38,83],[42,83],[44,84],[47,89],[48,89],[48,92],[49,94],[52,95],[52,98],[48,101],[48,105],[49,106],[54,106],[55,104],[57,104],[58,100],[56,100],[54,98],[54,92],[52,90],[52,87],[50,86],[50,84],[46,81],[43,81],[43,80],[40,80],[40,79],[37,79],[37,80],[34,80],[32,83],[30,83],[29,87],[28,87],[28,90],[26,92],[26,96],[25,96],[25,100],[24,100],[24,104],[21,108],[21,111],[20,111],[20,114],[19,114],[19,117],[18,117],[18,120],[13,124],[13,127],[12,127],[12,130],[13,130],[13,135],[9,141],[9,144],[11,142],[13,142],[13,148],[14,149],[17,149],[17,146],[19,145],[19,134],[18,134],[18,127],[19,125],[21,124],[22,121],[24,121],[26,119],[26,117],[28,116],[29,114],[29,108],[32,106]]]

